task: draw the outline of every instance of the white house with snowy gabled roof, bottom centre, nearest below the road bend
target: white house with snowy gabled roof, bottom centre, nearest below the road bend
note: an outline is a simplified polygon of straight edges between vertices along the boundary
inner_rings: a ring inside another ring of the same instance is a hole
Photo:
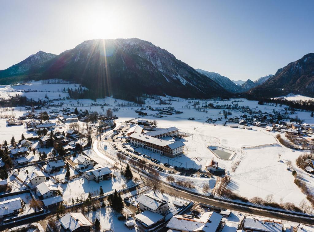
[[[136,201],[141,211],[149,210],[153,213],[163,214],[169,208],[169,202],[151,194],[143,194],[139,196]]]

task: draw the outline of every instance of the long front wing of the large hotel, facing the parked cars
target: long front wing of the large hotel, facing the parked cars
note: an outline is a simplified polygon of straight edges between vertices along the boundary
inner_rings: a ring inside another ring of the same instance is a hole
[[[133,146],[145,148],[168,157],[176,157],[182,154],[185,146],[181,141],[171,142],[139,133],[131,134],[129,139]]]

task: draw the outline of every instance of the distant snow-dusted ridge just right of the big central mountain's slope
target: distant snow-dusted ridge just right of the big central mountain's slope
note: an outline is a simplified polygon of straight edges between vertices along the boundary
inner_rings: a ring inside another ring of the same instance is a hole
[[[205,70],[202,70],[200,68],[195,69],[199,73],[207,76],[208,78],[214,80],[216,83],[218,83],[222,88],[225,90],[231,92],[231,93],[239,93],[241,92],[241,86],[236,85],[233,83],[229,78],[225,76],[221,76],[219,73],[212,73]]]

